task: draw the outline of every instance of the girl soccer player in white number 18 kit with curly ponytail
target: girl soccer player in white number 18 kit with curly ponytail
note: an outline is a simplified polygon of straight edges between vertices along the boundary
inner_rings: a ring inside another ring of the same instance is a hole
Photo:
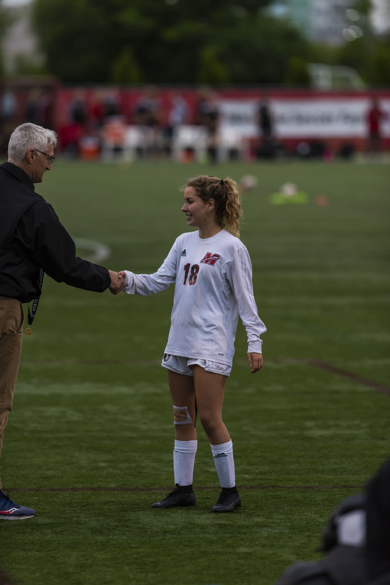
[[[176,487],[152,507],[195,504],[197,409],[222,488],[212,511],[231,512],[240,507],[241,498],[222,405],[239,315],[247,331],[251,373],[263,366],[260,335],[267,330],[253,298],[250,257],[239,239],[241,207],[235,181],[204,175],[190,179],[181,211],[187,225],[198,231],[179,236],[156,273],[120,273],[127,294],[153,294],[175,283],[171,329],[161,365],[168,370],[173,402]]]

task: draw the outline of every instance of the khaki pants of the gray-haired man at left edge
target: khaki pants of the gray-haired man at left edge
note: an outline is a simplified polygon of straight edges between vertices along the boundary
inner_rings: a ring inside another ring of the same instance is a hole
[[[18,376],[24,318],[20,301],[0,295],[0,455]]]

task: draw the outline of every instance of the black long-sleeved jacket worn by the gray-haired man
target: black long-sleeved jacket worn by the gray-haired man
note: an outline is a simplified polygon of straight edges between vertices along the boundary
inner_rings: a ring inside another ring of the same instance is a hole
[[[0,295],[22,302],[39,296],[39,269],[57,283],[103,292],[108,270],[76,256],[73,240],[32,178],[12,163],[0,165]]]

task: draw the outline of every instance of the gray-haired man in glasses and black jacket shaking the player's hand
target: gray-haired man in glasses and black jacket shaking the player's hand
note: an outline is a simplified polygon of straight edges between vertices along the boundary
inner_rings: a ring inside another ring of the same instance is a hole
[[[22,303],[34,301],[26,329],[30,335],[43,274],[96,292],[109,288],[118,294],[124,285],[118,273],[76,256],[54,209],[34,191],[34,183],[50,171],[56,145],[53,130],[22,124],[9,140],[8,163],[0,165],[0,453],[22,352]],[[0,519],[33,516],[34,510],[5,495],[0,479]]]

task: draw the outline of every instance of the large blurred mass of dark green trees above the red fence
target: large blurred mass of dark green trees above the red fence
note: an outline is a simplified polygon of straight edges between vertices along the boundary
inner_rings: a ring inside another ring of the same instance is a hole
[[[309,44],[270,0],[34,0],[50,73],[67,82],[280,83]],[[129,49],[131,46],[131,49]]]

